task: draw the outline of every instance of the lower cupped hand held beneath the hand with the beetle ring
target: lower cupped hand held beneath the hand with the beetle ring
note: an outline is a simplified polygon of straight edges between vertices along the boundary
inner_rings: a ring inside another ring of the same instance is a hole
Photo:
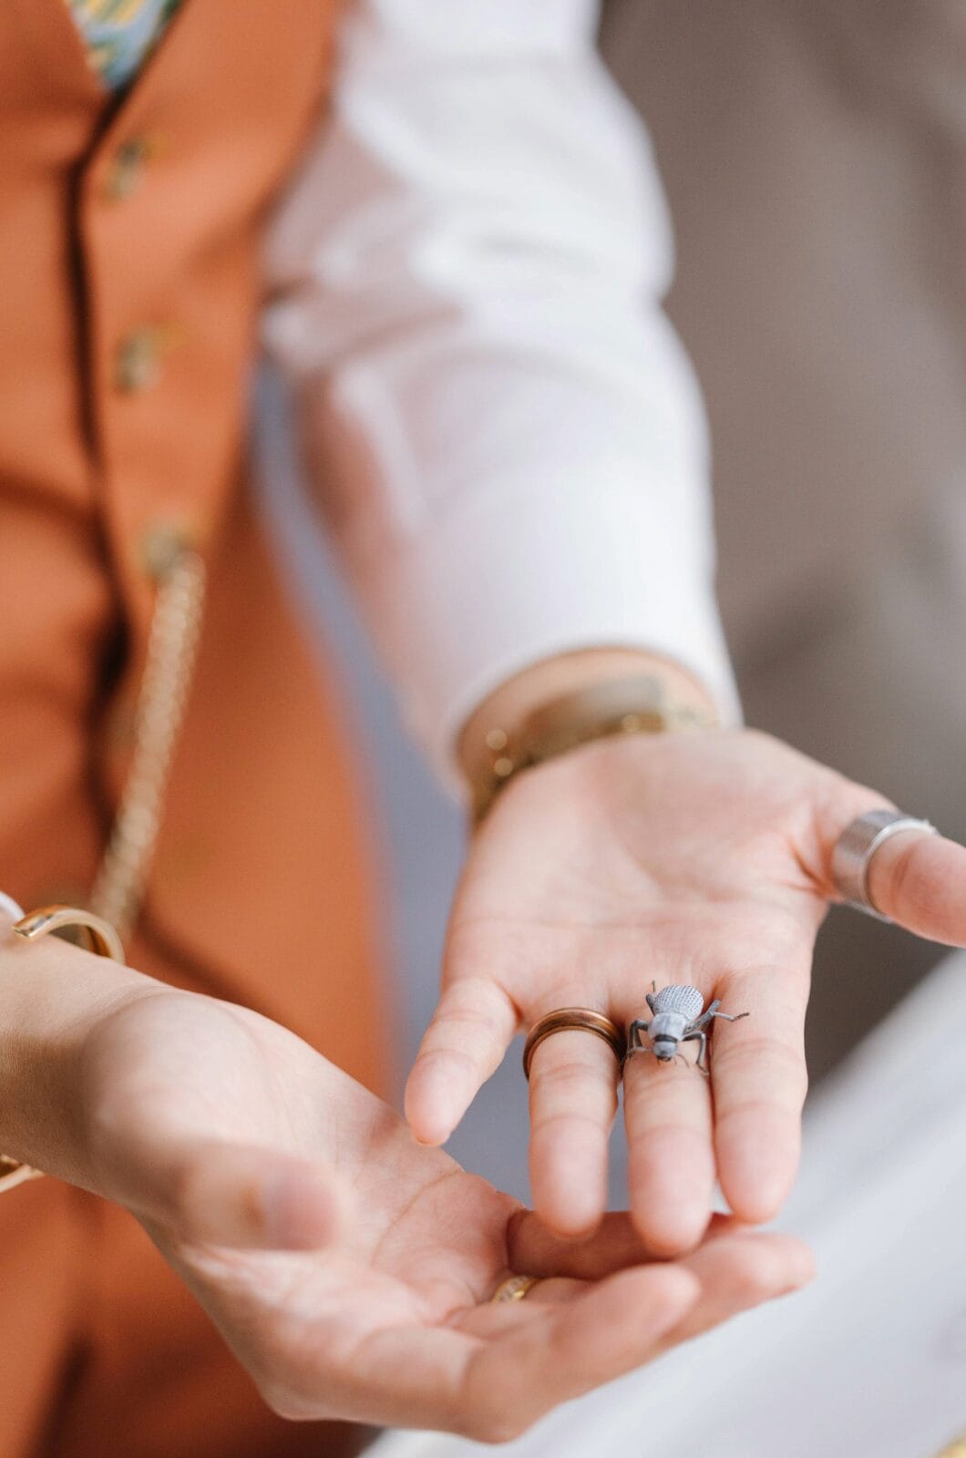
[[[155,990],[80,1057],[88,1182],[127,1204],[283,1416],[498,1441],[808,1277],[721,1222],[641,1264],[625,1216],[562,1245],[276,1024]],[[511,1271],[547,1277],[490,1305]]]

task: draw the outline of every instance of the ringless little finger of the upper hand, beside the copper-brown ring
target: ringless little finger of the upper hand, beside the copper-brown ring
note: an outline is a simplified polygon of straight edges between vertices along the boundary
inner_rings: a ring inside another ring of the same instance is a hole
[[[449,984],[406,1085],[406,1117],[420,1143],[445,1143],[499,1067],[518,1022],[511,997],[489,978]]]

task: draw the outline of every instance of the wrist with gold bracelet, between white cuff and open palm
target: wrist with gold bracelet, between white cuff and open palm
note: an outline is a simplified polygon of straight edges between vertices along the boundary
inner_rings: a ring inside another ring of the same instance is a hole
[[[709,728],[716,706],[681,665],[633,649],[592,649],[534,663],[467,722],[458,758],[480,819],[518,770],[617,732]]]

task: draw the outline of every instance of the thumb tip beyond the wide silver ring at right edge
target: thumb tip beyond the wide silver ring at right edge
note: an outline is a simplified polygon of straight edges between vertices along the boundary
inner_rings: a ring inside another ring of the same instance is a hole
[[[966,946],[966,847],[924,831],[886,840],[868,868],[873,905],[906,930]]]

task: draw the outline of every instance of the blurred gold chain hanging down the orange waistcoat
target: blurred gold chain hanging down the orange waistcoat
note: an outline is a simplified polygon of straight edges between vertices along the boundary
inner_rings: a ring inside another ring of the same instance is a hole
[[[159,573],[131,768],[90,894],[90,910],[115,926],[121,936],[127,936],[137,920],[161,831],[165,790],[197,658],[204,576],[201,557],[188,548],[172,554]]]

